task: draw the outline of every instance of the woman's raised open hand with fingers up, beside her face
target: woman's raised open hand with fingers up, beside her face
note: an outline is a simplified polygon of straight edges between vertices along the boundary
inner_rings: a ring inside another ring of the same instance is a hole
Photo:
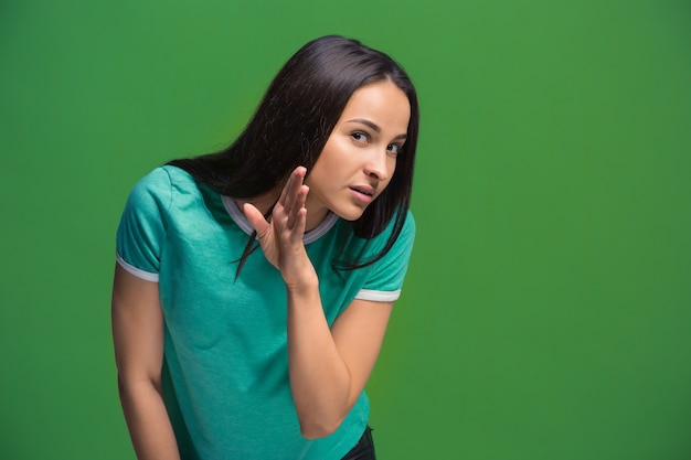
[[[245,203],[243,212],[257,232],[264,256],[280,274],[288,287],[317,279],[302,243],[307,224],[305,201],[309,188],[302,182],[307,169],[296,168],[280,192],[267,221],[253,204]]]

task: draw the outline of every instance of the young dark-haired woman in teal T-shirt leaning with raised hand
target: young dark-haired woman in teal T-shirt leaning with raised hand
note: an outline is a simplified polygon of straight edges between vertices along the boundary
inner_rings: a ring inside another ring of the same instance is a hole
[[[412,250],[417,129],[403,69],[325,36],[231,147],[139,181],[113,290],[139,459],[374,458],[363,388]]]

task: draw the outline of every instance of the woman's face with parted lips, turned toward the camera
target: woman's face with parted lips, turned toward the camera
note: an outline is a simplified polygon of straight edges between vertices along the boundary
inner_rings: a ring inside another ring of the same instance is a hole
[[[393,176],[410,118],[407,96],[389,79],[353,93],[305,180],[307,229],[328,211],[347,221],[362,215]]]

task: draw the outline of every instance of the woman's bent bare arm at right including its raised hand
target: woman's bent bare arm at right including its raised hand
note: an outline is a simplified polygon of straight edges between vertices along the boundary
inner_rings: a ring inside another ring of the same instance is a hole
[[[333,432],[362,393],[384,339],[392,303],[354,300],[329,329],[319,295],[319,279],[305,245],[309,189],[306,170],[297,168],[267,222],[245,204],[264,255],[280,274],[288,291],[290,389],[302,435]]]

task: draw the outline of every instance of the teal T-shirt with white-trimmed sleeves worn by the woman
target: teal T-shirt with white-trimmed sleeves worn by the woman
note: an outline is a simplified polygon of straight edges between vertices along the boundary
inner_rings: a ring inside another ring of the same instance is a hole
[[[164,397],[180,450],[191,459],[340,459],[365,428],[366,395],[331,436],[300,435],[288,383],[285,285],[261,249],[236,278],[247,232],[232,200],[174,167],[139,181],[118,227],[118,263],[159,282]],[[330,215],[306,235],[329,324],[354,298],[398,297],[415,234],[410,213],[382,260],[332,269],[334,260],[374,254],[390,232],[368,242]]]

